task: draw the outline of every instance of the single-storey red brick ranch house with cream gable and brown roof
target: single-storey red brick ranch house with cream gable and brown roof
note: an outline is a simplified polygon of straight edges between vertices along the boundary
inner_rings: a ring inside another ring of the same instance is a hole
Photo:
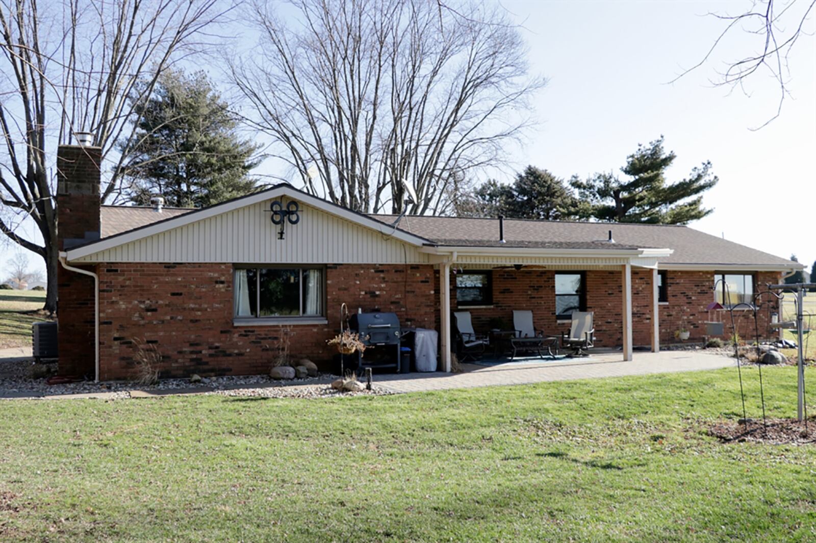
[[[445,371],[458,307],[485,332],[491,318],[532,310],[553,335],[572,308],[594,311],[596,346],[632,360],[635,347],[658,351],[679,329],[702,341],[709,303],[746,299],[799,269],[689,227],[505,220],[501,241],[498,219],[406,216],[394,226],[285,183],[201,210],[100,206],[99,164],[98,148],[59,149],[64,375],[127,378],[140,342],[162,354],[162,377],[267,373],[284,326],[291,351],[319,364],[333,354],[326,340],[344,302],[439,330]],[[282,239],[275,201],[299,205]],[[748,337],[752,311],[742,313]]]

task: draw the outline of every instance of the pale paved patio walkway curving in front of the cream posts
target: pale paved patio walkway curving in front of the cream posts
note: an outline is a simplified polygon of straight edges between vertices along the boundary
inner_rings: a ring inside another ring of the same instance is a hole
[[[648,373],[688,372],[735,366],[736,360],[700,351],[636,352],[623,362],[619,353],[592,355],[588,359],[541,364],[462,364],[463,373],[409,373],[377,375],[375,383],[393,392],[445,391],[475,386],[523,385],[533,382],[569,381],[595,377],[624,377]]]

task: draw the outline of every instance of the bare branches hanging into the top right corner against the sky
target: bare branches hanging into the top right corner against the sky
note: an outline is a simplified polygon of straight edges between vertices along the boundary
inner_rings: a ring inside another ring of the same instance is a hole
[[[708,14],[722,20],[725,28],[714,40],[703,59],[672,82],[712,60],[715,51],[725,39],[731,33],[742,30],[753,37],[756,48],[748,55],[726,62],[725,69],[717,70],[718,77],[712,83],[715,86],[743,89],[747,79],[757,73],[773,77],[779,86],[778,104],[773,117],[759,126],[761,128],[779,117],[782,112],[783,102],[788,95],[788,55],[802,36],[812,37],[812,33],[806,31],[805,24],[814,12],[816,0],[787,0],[787,2],[754,0],[747,3],[751,3],[751,7],[736,15]]]

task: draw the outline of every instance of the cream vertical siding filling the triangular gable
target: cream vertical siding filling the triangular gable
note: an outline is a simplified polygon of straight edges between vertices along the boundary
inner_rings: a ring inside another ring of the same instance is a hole
[[[287,222],[285,237],[278,240],[280,227],[272,223],[268,211],[271,202],[247,205],[75,262],[428,263],[428,255],[413,245],[302,203],[300,222]]]

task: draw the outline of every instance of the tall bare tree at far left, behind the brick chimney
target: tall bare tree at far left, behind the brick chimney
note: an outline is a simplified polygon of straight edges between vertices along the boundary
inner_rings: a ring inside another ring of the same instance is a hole
[[[102,199],[120,191],[133,107],[159,73],[202,48],[218,0],[0,0],[0,232],[42,256],[56,309],[55,148],[77,132],[102,148]],[[143,85],[137,85],[143,82]],[[9,217],[11,214],[11,217]],[[42,245],[20,232],[33,221]]]

